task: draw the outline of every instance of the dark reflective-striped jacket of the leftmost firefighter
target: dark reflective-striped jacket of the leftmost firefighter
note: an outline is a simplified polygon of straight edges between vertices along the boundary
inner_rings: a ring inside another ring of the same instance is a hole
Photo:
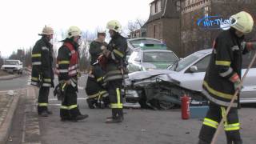
[[[31,85],[54,87],[53,46],[42,36],[32,50]]]

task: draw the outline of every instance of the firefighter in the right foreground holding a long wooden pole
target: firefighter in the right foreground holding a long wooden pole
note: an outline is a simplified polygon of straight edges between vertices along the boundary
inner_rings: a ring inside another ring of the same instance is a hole
[[[202,123],[199,144],[211,142],[235,90],[240,90],[238,85],[241,79],[242,54],[251,50],[250,47],[242,45],[244,34],[250,33],[254,26],[251,15],[241,11],[232,15],[230,20],[230,30],[223,31],[214,40],[210,64],[203,81],[202,93],[209,99],[210,108]],[[235,99],[224,122],[228,144],[242,143],[239,132],[238,106],[239,96]]]

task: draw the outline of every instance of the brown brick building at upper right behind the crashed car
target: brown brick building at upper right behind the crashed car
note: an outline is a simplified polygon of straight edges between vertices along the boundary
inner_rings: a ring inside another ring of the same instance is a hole
[[[194,51],[211,48],[221,27],[239,11],[252,14],[256,22],[255,6],[256,0],[154,0],[150,3],[146,35],[162,38],[179,57],[185,57]],[[256,40],[255,32],[254,28],[246,35],[246,40]]]

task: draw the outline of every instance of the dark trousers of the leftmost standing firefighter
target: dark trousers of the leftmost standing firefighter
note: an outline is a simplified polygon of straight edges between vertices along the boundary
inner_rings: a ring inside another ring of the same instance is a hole
[[[48,96],[50,87],[41,86],[38,95],[38,114],[48,110]]]

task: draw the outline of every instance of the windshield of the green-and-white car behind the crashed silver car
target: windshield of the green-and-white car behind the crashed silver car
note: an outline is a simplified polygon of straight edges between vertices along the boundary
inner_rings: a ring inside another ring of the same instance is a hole
[[[175,62],[178,58],[173,52],[150,51],[143,53],[142,62]]]

